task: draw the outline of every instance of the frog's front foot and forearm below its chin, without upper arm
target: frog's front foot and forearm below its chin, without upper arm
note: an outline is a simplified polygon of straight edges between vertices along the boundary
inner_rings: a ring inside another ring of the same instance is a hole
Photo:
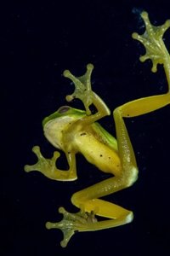
[[[56,166],[56,160],[59,158],[59,152],[55,151],[54,156],[51,159],[46,159],[42,156],[39,146],[32,148],[32,151],[37,155],[37,163],[35,165],[26,165],[24,167],[26,172],[38,171],[42,172],[43,175],[54,180],[75,180],[77,177],[71,176],[69,171],[61,171]]]

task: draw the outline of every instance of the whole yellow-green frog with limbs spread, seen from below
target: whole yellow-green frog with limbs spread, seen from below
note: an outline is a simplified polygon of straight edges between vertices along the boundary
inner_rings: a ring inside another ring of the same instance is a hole
[[[153,26],[147,12],[143,11],[140,15],[144,20],[145,32],[142,35],[134,32],[132,35],[146,50],[140,61],[150,59],[153,73],[156,73],[158,64],[163,65],[167,77],[167,93],[138,98],[117,107],[112,112],[116,125],[116,137],[113,137],[99,124],[99,119],[111,115],[111,111],[92,89],[91,74],[94,66],[88,64],[86,73],[80,77],[65,70],[64,77],[70,79],[75,86],[74,92],[66,96],[66,101],[78,99],[82,101],[84,109],[62,106],[43,119],[44,136],[58,150],[54,151],[51,159],[46,159],[39,146],[35,146],[32,151],[37,155],[37,163],[25,166],[26,172],[41,172],[56,181],[74,181],[77,179],[76,154],[81,153],[90,164],[111,175],[71,196],[71,203],[78,208],[78,212],[67,212],[64,207],[59,207],[63,219],[46,223],[47,229],[63,232],[61,247],[66,247],[77,232],[105,230],[133,221],[133,211],[103,199],[105,195],[129,188],[138,179],[139,168],[125,119],[153,112],[170,103],[170,56],[162,38],[170,27],[170,20],[162,26]],[[59,150],[65,153],[68,170],[57,167]]]

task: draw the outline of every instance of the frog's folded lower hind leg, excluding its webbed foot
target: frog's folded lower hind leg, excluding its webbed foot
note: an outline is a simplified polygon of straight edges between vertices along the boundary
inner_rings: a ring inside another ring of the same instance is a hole
[[[90,214],[88,216],[92,217],[92,219],[88,217],[88,220],[91,221],[87,225],[87,230],[113,228],[133,220],[133,212],[109,201],[99,199],[101,196],[115,193],[118,190],[125,189],[127,186],[128,183],[123,177],[111,177],[72,195],[71,202],[80,208],[82,212],[88,212]],[[93,223],[93,213],[95,216],[106,219]]]

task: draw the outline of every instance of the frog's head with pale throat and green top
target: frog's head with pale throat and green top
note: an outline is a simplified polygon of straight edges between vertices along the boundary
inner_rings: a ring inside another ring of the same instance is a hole
[[[71,108],[69,106],[60,107],[56,112],[50,114],[42,120],[42,127],[45,137],[55,148],[62,149],[63,135],[68,127],[81,119],[86,114],[85,111]]]

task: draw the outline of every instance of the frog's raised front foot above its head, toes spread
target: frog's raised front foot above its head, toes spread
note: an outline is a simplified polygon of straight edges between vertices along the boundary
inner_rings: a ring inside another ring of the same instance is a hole
[[[73,94],[66,96],[67,102],[71,102],[73,99],[80,99],[84,107],[86,108],[87,114],[91,114],[89,106],[93,103],[93,91],[91,89],[91,73],[94,69],[94,65],[87,65],[87,72],[81,77],[75,77],[69,70],[65,70],[63,73],[65,78],[71,79],[75,84],[75,91]]]

